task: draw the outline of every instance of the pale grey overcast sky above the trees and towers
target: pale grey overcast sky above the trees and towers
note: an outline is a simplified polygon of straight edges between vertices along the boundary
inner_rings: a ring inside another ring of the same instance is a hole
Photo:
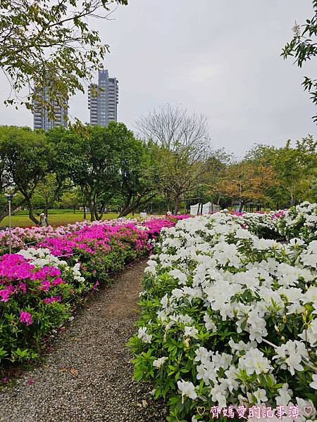
[[[316,113],[303,91],[303,69],[280,57],[294,20],[313,15],[311,0],[130,0],[115,20],[94,22],[111,46],[105,60],[119,79],[118,120],[135,120],[166,103],[209,119],[216,147],[242,155],[254,143],[282,146],[317,136]],[[0,100],[8,95],[0,77]],[[70,101],[70,116],[89,121],[87,94]],[[0,124],[29,125],[32,115],[0,105]]]

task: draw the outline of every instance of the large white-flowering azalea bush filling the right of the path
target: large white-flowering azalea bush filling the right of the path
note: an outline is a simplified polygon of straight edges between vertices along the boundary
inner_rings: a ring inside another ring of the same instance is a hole
[[[135,378],[168,398],[170,422],[210,421],[209,409],[240,421],[218,412],[229,406],[249,421],[315,420],[317,241],[259,238],[245,217],[163,229],[145,270]],[[252,417],[264,405],[280,414]]]

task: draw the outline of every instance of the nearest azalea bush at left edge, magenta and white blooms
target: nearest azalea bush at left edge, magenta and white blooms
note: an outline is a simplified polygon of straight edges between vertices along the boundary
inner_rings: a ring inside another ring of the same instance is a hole
[[[70,316],[69,302],[91,288],[78,265],[30,249],[0,257],[0,358],[37,357],[42,337]]]

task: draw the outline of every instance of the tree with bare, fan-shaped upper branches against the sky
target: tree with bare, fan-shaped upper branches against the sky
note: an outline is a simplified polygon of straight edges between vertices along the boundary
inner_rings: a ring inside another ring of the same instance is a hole
[[[187,193],[205,183],[209,136],[206,117],[168,105],[141,117],[137,129],[157,144],[160,189],[173,198],[174,214]]]

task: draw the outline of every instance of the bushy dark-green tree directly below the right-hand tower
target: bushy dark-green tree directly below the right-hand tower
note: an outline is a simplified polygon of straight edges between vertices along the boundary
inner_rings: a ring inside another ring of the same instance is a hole
[[[147,145],[135,139],[123,123],[76,128],[71,177],[80,186],[91,219],[101,219],[114,196],[122,203],[120,216],[144,205],[154,184],[148,169]]]

